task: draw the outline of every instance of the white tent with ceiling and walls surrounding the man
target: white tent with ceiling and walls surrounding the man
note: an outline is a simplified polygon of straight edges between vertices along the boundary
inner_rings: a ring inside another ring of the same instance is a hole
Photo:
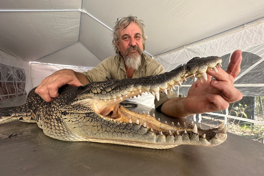
[[[58,69],[85,71],[115,55],[111,29],[132,14],[145,23],[145,53],[167,71],[196,56],[228,60],[240,49],[244,62],[235,85],[244,95],[263,96],[263,12],[263,0],[1,0],[0,63],[25,70],[27,92]]]

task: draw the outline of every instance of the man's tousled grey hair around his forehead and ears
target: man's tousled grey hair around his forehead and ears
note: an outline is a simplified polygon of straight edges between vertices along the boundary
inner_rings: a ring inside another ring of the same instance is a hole
[[[115,41],[117,41],[117,43],[119,44],[118,31],[120,28],[125,29],[131,22],[138,24],[138,26],[141,28],[143,51],[145,51],[146,48],[147,36],[145,34],[145,25],[143,21],[132,15],[129,15],[128,17],[118,18],[117,21],[115,22],[115,27],[113,28],[112,45],[114,47],[115,53],[120,56],[121,56],[121,52],[118,50],[117,46],[115,45]]]

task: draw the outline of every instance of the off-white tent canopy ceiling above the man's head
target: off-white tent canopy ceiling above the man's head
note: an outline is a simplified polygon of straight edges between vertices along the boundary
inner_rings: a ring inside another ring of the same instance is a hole
[[[143,20],[146,53],[157,56],[264,17],[263,0],[2,0],[0,51],[25,60],[96,66],[115,55],[118,17]]]

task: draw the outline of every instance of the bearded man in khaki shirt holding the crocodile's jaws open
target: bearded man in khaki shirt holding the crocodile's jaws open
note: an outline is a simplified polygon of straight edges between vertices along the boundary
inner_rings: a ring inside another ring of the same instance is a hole
[[[80,86],[92,81],[107,79],[138,78],[164,73],[164,68],[153,59],[142,54],[145,50],[145,26],[137,17],[119,18],[113,28],[113,46],[116,56],[102,61],[96,68],[85,73],[63,69],[45,78],[35,92],[45,101],[51,102],[58,94],[58,88],[68,84]],[[242,93],[234,86],[234,78],[240,71],[241,51],[231,56],[227,71],[218,73],[208,70],[208,81],[196,81],[190,87],[186,98],[162,95],[155,107],[172,117],[213,112],[228,108],[229,103],[242,99]],[[211,77],[216,80],[211,80]],[[211,81],[210,81],[211,80]]]

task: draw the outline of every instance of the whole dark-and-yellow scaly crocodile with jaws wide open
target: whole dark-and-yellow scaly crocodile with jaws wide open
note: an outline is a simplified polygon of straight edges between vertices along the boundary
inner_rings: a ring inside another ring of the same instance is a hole
[[[123,80],[92,82],[83,86],[63,86],[51,103],[32,89],[22,106],[0,108],[0,123],[13,120],[36,122],[52,138],[91,141],[145,148],[172,148],[180,144],[215,146],[226,140],[227,126],[202,130],[195,124],[161,123],[155,115],[137,114],[120,106],[124,99],[152,92],[170,93],[189,77],[206,77],[206,70],[221,66],[221,58],[193,58],[187,65],[164,74]]]

